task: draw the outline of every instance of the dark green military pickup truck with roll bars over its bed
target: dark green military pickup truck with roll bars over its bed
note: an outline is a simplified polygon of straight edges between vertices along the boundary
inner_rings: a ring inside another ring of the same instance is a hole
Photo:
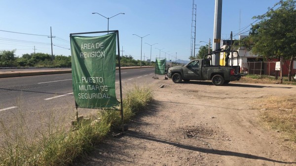
[[[212,55],[228,54],[232,58],[225,66],[212,65]],[[204,55],[203,59],[194,59],[189,63],[182,66],[174,66],[168,69],[167,76],[172,79],[174,83],[182,83],[182,80],[189,82],[190,80],[211,80],[216,86],[220,86],[230,81],[238,81],[246,74],[240,73],[240,66],[233,65],[233,55],[236,55],[238,63],[237,51],[215,51],[210,54]],[[228,63],[230,65],[228,66]]]

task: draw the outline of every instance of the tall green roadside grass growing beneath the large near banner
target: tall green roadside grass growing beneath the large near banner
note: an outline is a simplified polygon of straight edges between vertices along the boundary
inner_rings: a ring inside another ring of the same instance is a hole
[[[135,86],[128,91],[123,99],[124,121],[145,111],[152,98],[150,88]],[[20,120],[16,130],[1,123],[0,130],[5,132],[5,138],[0,144],[0,166],[71,165],[122,124],[119,111],[101,110],[97,115],[79,121],[70,130],[55,126],[54,120],[49,120],[45,129],[28,135],[28,128],[22,123],[23,119]]]

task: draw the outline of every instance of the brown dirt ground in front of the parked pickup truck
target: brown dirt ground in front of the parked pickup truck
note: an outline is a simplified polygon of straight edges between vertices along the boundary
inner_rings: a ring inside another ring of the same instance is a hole
[[[149,86],[154,101],[148,111],[75,166],[296,166],[295,143],[264,129],[252,104],[271,95],[295,96],[295,85],[169,79]]]

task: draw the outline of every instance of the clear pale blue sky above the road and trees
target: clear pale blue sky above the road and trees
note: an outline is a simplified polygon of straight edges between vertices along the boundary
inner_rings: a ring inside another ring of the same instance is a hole
[[[278,1],[223,0],[221,39],[230,39],[231,31],[234,39],[240,31],[247,34],[255,21],[252,17]],[[106,31],[107,18],[109,30],[119,31],[121,55],[141,59],[141,37],[142,60],[150,59],[150,51],[152,61],[159,54],[189,60],[191,53],[193,0],[0,0],[0,4],[0,51],[15,49],[19,57],[34,52],[51,55],[50,27],[53,55],[69,56],[70,33]],[[213,41],[215,0],[194,0],[194,4],[195,41],[204,46],[209,38]],[[104,34],[91,36],[100,35]]]

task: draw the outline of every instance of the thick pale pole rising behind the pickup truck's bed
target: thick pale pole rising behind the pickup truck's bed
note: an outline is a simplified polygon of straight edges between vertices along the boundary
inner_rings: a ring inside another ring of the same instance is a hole
[[[213,51],[220,49],[221,46],[221,25],[222,25],[222,0],[215,0],[214,14],[214,35],[213,35]],[[220,64],[220,55],[213,57],[213,64]]]

